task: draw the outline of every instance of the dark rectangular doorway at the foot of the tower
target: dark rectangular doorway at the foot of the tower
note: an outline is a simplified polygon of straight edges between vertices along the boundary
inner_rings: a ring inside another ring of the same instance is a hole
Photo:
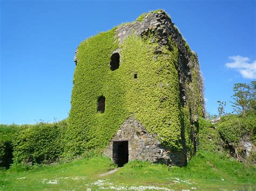
[[[113,142],[113,161],[118,167],[124,166],[129,161],[128,141]]]

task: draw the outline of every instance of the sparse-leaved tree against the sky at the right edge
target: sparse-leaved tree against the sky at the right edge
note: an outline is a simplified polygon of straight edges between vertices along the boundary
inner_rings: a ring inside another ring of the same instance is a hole
[[[235,112],[244,115],[246,111],[255,109],[255,86],[255,81],[252,81],[250,84],[234,84],[234,95],[232,96],[234,102],[231,103]]]

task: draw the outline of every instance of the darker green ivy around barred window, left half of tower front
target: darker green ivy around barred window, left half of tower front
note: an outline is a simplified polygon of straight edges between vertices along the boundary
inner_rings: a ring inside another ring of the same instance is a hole
[[[118,47],[114,32],[100,33],[81,43],[71,98],[70,124],[66,133],[66,155],[109,143],[128,117],[119,69],[110,69],[110,57]],[[121,66],[120,66],[121,67]],[[97,111],[98,97],[105,96],[105,112]]]

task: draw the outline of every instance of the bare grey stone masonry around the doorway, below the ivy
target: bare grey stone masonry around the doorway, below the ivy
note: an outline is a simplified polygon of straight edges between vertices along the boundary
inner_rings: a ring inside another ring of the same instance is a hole
[[[187,162],[182,151],[171,151],[160,144],[157,135],[150,135],[144,126],[130,117],[117,131],[104,154],[113,160],[113,142],[128,140],[129,161],[142,160],[167,165],[184,166]]]

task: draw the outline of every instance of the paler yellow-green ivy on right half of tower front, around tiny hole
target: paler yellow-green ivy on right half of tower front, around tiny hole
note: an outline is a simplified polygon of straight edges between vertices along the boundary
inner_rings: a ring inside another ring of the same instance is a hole
[[[166,146],[179,150],[181,145],[181,110],[179,77],[175,67],[178,49],[170,52],[161,47],[162,54],[154,54],[159,45],[150,38],[129,37],[121,47],[122,66],[119,71],[124,83],[125,108],[150,133],[157,133]],[[138,78],[133,79],[137,73]]]

